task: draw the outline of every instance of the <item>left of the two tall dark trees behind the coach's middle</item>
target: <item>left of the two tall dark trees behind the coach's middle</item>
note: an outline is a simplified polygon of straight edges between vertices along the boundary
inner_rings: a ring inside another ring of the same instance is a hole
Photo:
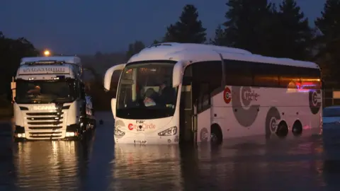
[[[227,6],[227,21],[222,25],[224,31],[217,28],[217,36],[212,42],[266,54],[271,4],[266,0],[229,0]]]

